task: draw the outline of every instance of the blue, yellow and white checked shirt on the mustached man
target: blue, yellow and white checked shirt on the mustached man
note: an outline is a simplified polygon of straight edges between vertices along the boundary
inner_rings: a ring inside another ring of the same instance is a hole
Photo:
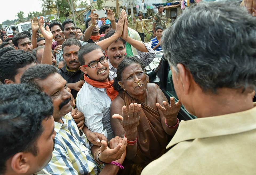
[[[48,165],[37,174],[97,174],[103,168],[94,161],[90,143],[85,134],[81,136],[71,114],[61,118],[64,124],[54,122],[55,148]]]

